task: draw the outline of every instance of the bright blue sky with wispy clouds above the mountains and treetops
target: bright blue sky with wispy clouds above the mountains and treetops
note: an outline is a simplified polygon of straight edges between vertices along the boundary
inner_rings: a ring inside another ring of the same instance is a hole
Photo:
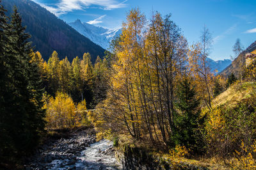
[[[244,47],[256,40],[255,0],[33,0],[66,22],[80,19],[95,26],[122,26],[131,8],[139,7],[150,18],[152,10],[172,13],[189,43],[197,42],[204,25],[214,40],[210,58],[230,59],[240,38]]]

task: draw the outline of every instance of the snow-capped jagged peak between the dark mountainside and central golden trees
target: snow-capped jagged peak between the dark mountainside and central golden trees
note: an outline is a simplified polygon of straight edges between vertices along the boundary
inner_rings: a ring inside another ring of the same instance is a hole
[[[93,26],[86,22],[81,22],[77,19],[75,22],[70,22],[68,25],[72,26],[81,35],[86,36],[92,42],[100,45],[104,49],[109,49],[111,40],[122,32],[121,29],[106,29],[104,27]]]

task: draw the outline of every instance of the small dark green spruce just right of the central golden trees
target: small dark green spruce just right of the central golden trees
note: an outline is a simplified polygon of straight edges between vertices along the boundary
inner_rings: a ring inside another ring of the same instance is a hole
[[[194,151],[200,143],[198,137],[198,120],[200,117],[200,100],[196,98],[195,87],[186,77],[179,83],[177,90],[176,107],[179,111],[175,114],[174,144],[186,146]]]

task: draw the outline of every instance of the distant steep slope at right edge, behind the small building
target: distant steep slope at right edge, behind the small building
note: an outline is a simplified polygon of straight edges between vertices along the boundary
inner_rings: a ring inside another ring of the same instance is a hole
[[[234,61],[232,61],[232,63],[227,68],[220,72],[220,75],[224,75],[225,77],[227,77],[228,75],[230,75],[230,73],[234,73],[236,77],[241,77],[241,69],[245,63],[245,54],[247,52],[252,52],[255,49],[256,41],[253,42],[246,50],[241,52],[239,56],[237,56],[237,58],[234,59]]]

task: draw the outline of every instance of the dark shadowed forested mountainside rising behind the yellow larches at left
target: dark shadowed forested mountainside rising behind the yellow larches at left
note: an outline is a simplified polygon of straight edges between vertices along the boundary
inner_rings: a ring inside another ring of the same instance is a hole
[[[17,6],[22,23],[27,26],[26,31],[32,36],[31,42],[35,45],[35,50],[40,51],[44,59],[48,60],[53,50],[58,52],[60,59],[67,56],[70,61],[76,56],[81,58],[84,52],[92,55],[92,61],[98,55],[104,56],[105,50],[102,47],[33,1],[3,0],[1,4],[8,10],[6,14],[9,16],[13,5]]]

